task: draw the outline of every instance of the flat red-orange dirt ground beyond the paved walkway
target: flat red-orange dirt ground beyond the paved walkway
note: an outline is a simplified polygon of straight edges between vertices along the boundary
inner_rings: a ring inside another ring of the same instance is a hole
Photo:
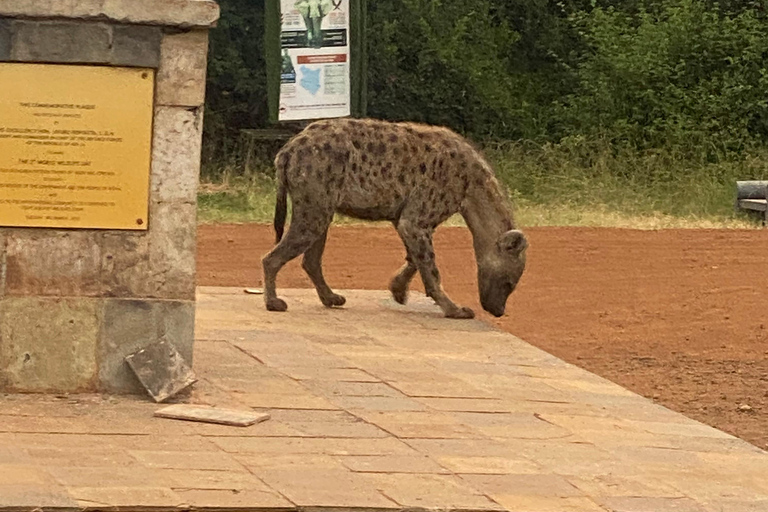
[[[507,316],[482,318],[667,407],[768,447],[768,232],[526,233],[528,269]],[[199,284],[260,286],[260,258],[272,241],[269,226],[201,226]],[[446,291],[479,311],[469,232],[440,229],[435,245]],[[386,289],[403,259],[391,228],[334,227],[324,268],[333,287]],[[278,286],[311,287],[298,260],[283,269]]]

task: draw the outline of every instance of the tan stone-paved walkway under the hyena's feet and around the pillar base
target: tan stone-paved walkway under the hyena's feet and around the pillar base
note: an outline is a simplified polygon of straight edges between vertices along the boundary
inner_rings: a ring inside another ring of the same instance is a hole
[[[423,298],[351,292],[328,311],[285,295],[286,314],[239,289],[199,295],[190,401],[270,421],[0,397],[0,510],[768,510],[765,452],[513,336]]]

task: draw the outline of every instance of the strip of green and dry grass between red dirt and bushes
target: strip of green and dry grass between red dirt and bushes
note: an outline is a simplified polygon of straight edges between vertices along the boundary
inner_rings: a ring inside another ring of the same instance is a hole
[[[521,226],[759,227],[733,208],[735,182],[768,177],[768,154],[707,163],[670,152],[601,144],[504,144],[486,149]],[[266,172],[217,170],[199,196],[203,223],[271,222],[274,180]],[[337,223],[356,222],[337,218]],[[461,219],[451,219],[461,224]]]

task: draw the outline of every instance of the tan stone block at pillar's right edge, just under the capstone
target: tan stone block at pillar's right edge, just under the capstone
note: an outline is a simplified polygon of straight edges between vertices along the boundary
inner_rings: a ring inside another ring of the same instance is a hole
[[[166,34],[160,46],[156,104],[199,107],[205,102],[208,32]]]

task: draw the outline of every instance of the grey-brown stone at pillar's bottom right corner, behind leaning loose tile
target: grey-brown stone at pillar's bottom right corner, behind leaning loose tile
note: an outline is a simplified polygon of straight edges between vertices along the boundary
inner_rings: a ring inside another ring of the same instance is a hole
[[[162,339],[172,343],[191,366],[194,303],[107,299],[99,336],[99,389],[145,393],[125,357]]]

